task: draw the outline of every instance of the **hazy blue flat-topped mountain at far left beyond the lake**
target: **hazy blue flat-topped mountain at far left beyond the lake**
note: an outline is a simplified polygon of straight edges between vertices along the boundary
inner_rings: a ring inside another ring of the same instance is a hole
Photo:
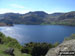
[[[0,22],[13,24],[20,19],[20,14],[17,13],[5,13],[0,17]]]

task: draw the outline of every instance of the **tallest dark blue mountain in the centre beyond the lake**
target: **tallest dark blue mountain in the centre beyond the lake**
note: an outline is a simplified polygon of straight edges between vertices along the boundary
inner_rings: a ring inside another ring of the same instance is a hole
[[[22,15],[22,22],[25,24],[41,24],[47,15],[48,14],[43,11],[29,12]]]

